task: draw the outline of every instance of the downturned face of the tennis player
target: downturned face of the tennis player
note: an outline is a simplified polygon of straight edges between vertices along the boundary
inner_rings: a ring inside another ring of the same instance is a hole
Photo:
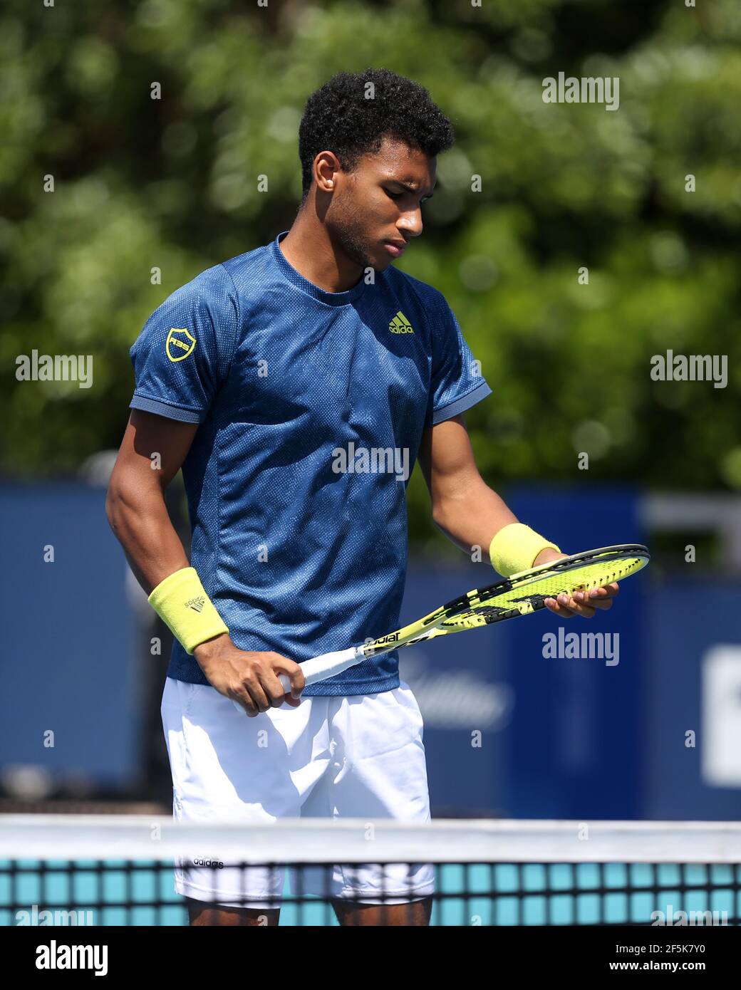
[[[420,206],[432,195],[436,159],[384,138],[353,172],[334,173],[324,223],[332,243],[363,268],[382,271],[422,233]]]

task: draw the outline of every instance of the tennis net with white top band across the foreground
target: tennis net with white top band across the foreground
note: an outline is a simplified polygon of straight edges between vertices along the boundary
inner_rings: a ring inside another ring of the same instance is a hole
[[[337,925],[338,894],[398,903],[430,882],[432,925],[738,925],[740,861],[736,823],[7,815],[0,925],[186,925],[173,873],[201,900],[279,907],[280,925]]]

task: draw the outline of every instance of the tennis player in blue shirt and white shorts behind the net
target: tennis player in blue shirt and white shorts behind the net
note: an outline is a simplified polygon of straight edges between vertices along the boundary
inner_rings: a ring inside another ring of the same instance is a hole
[[[107,513],[175,637],[161,712],[177,819],[429,819],[397,655],[303,693],[300,666],[398,626],[416,460],[434,521],[463,549],[505,575],[564,555],[481,479],[464,413],[489,386],[440,292],[393,267],[453,141],[417,83],[334,76],[301,120],[290,230],[179,288],[132,348]],[[180,468],[190,559],[163,499]],[[616,592],[549,607],[589,617]],[[280,871],[242,872],[193,850],[176,874],[192,925],[277,924]],[[432,868],[338,867],[331,893],[341,924],[426,925]]]

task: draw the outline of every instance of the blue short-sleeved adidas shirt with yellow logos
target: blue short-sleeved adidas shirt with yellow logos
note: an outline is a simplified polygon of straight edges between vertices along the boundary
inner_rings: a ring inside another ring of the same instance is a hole
[[[490,393],[445,298],[392,266],[348,292],[278,242],[202,272],[132,347],[131,406],[199,424],[191,563],[242,649],[300,661],[396,629],[423,431]],[[175,642],[168,675],[207,684]],[[396,653],[306,696],[398,686]]]

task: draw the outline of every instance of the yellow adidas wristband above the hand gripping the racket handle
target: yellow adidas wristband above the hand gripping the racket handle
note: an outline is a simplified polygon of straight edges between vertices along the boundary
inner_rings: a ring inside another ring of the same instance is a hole
[[[165,577],[148,601],[187,653],[192,653],[198,644],[229,632],[203,590],[194,567],[183,567]]]

